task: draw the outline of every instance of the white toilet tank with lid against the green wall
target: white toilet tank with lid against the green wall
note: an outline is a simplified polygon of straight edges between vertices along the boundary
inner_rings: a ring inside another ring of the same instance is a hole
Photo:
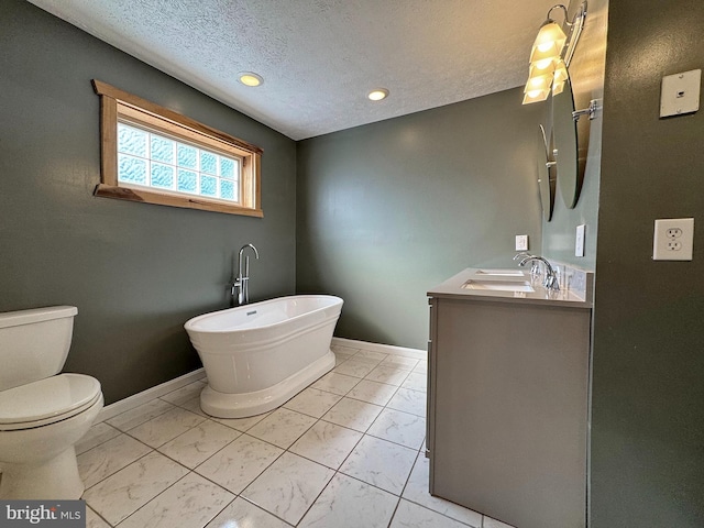
[[[0,391],[58,374],[74,333],[75,306],[0,314]]]

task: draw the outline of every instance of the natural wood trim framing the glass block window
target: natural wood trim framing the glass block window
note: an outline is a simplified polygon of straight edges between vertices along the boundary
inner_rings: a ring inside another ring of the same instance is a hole
[[[155,105],[113,86],[92,79],[100,97],[100,184],[95,196],[141,201],[206,211],[262,218],[261,157],[262,148],[230,134],[199,123],[178,112]],[[121,186],[118,183],[118,120],[124,116],[133,121],[190,143],[230,153],[242,161],[242,205],[226,204],[200,196],[180,195],[146,187]],[[150,121],[153,120],[153,121]],[[154,123],[158,121],[160,127]]]

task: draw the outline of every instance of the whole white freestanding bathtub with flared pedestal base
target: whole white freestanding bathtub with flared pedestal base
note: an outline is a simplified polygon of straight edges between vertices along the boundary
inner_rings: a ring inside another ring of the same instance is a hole
[[[298,295],[213,311],[184,326],[208,376],[200,407],[244,418],[278,407],[334,367],[342,299]]]

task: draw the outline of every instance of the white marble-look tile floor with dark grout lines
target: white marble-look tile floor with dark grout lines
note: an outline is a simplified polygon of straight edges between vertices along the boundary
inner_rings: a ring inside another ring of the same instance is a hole
[[[428,493],[425,361],[333,346],[336,369],[243,419],[198,381],[77,446],[91,528],[510,528]]]

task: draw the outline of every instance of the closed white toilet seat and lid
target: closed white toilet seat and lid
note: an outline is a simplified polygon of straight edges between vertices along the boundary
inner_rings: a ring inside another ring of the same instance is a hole
[[[46,426],[76,416],[100,400],[100,382],[58,374],[0,392],[0,431]]]

